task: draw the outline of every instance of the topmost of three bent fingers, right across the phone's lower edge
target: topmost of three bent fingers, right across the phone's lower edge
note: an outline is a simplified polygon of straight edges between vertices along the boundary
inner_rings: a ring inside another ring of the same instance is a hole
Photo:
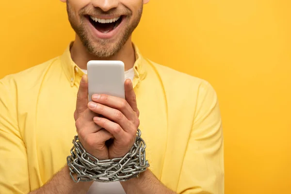
[[[123,98],[113,97],[105,94],[102,95],[95,94],[92,96],[92,100],[99,104],[104,104],[113,109],[117,109],[121,113],[123,113],[125,117],[130,121],[134,120],[135,117],[134,111],[130,107],[129,103]]]

